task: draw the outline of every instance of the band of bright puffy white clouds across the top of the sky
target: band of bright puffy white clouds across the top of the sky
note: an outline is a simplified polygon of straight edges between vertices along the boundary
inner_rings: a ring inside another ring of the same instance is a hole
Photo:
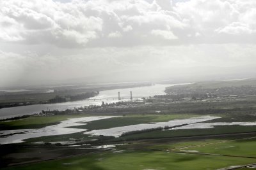
[[[234,36],[229,37],[230,43],[240,39],[243,43],[244,35],[256,36],[254,0],[191,0],[175,4],[169,0],[3,0],[0,6],[0,41],[15,43],[73,48],[108,46],[109,36],[120,35],[122,46],[131,45],[131,41],[137,45],[168,44],[164,39],[223,43],[227,42],[225,34]],[[156,35],[162,36],[163,41],[154,39]],[[120,42],[111,45],[120,46]]]

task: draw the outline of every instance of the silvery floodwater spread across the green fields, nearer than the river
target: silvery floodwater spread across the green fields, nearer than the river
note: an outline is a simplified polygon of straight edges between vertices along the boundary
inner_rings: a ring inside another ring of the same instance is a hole
[[[120,137],[126,132],[132,131],[144,131],[147,129],[156,129],[156,128],[166,128],[165,131],[177,131],[181,129],[209,129],[221,125],[241,125],[241,126],[253,126],[256,125],[256,122],[214,122],[208,123],[206,121],[218,119],[220,117],[216,116],[202,116],[202,117],[191,117],[191,118],[178,118],[166,122],[148,122],[143,124],[132,123],[131,125],[120,126],[120,124],[113,125],[108,129],[99,129],[99,123],[96,123],[90,127],[90,130],[83,127],[84,125],[91,125],[93,121],[104,120],[109,118],[118,118],[115,121],[123,121],[119,118],[122,116],[99,116],[99,117],[81,117],[81,118],[68,118],[67,120],[61,121],[56,125],[48,125],[40,129],[16,129],[16,130],[6,130],[0,131],[0,144],[8,143],[22,143],[24,139],[38,138],[42,136],[57,136],[65,134],[75,134],[77,132],[82,132],[81,136],[114,136],[115,138]],[[138,117],[140,118],[140,117]],[[136,117],[134,118],[134,120]],[[172,119],[172,118],[171,118]],[[113,120],[111,120],[113,122]],[[179,126],[179,127],[177,127]],[[106,128],[106,127],[105,127]],[[62,144],[70,144],[70,141],[58,141]],[[39,141],[38,141],[39,142]],[[42,142],[41,142],[42,143]],[[55,141],[56,143],[56,141]],[[72,143],[76,143],[73,142]],[[39,144],[39,143],[38,143]]]

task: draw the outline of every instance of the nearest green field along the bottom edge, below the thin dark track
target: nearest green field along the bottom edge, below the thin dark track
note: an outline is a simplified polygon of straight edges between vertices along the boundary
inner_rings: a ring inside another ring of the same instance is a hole
[[[72,169],[72,170],[143,170],[143,169],[218,169],[221,167],[250,164],[255,159],[219,157],[210,155],[180,155],[168,152],[124,152],[97,153],[69,159],[51,160],[26,166],[8,167],[12,169]]]

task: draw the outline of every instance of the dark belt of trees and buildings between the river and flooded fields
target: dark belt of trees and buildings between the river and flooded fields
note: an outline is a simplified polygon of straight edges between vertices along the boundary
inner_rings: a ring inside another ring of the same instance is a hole
[[[120,102],[117,104],[129,104],[127,107],[113,107],[116,104],[103,104],[102,106],[87,106],[83,108],[75,108],[74,110],[65,111],[45,111],[46,114],[68,115],[73,113],[138,113],[138,114],[156,114],[156,110],[161,110],[161,114],[170,113],[255,113],[255,101],[221,101],[214,103],[196,102],[196,103],[175,103],[170,104],[158,102],[153,99],[152,104],[136,104],[130,105],[128,102]]]

